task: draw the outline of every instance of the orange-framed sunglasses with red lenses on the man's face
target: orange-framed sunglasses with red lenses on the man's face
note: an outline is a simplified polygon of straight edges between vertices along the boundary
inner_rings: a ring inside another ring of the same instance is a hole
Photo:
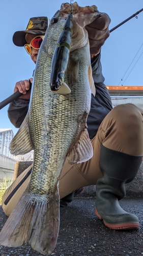
[[[40,49],[40,46],[42,44],[42,41],[44,39],[44,35],[36,36],[31,40],[30,44],[25,44],[24,48],[28,54],[32,54],[31,47],[33,47],[36,50]]]

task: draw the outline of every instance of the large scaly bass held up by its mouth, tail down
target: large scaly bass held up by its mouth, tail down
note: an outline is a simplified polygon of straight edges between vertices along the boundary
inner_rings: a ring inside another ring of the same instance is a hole
[[[74,164],[93,156],[87,118],[95,86],[85,26],[99,17],[96,6],[72,4],[70,54],[64,73],[71,92],[53,93],[49,84],[52,57],[69,13],[71,5],[65,3],[53,15],[38,53],[30,106],[10,143],[13,155],[34,150],[32,175],[0,233],[1,245],[17,247],[28,243],[44,255],[51,254],[58,239],[59,179],[65,159]]]

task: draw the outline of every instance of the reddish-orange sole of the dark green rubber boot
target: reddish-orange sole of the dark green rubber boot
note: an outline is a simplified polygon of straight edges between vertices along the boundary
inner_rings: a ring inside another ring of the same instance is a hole
[[[95,214],[99,217],[100,220],[103,220],[103,218],[99,215],[97,209],[95,208]],[[129,222],[129,223],[120,223],[120,224],[109,224],[103,220],[105,226],[111,228],[111,229],[137,229],[139,228],[138,222]]]

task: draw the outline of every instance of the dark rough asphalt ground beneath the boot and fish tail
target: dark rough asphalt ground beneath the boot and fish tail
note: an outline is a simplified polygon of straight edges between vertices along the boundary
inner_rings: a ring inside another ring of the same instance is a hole
[[[120,201],[128,212],[137,215],[137,230],[112,230],[95,215],[95,197],[76,197],[66,208],[61,208],[58,242],[53,256],[141,256],[143,255],[143,197],[125,197]],[[0,206],[0,229],[8,217]],[[1,256],[43,255],[30,246],[17,248],[0,246]]]

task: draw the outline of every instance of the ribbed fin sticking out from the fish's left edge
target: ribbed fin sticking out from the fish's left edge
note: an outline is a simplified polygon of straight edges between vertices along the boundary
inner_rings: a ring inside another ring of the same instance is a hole
[[[12,155],[24,155],[34,150],[30,134],[28,131],[27,118],[22,122],[17,134],[14,136],[10,143],[10,153]]]

